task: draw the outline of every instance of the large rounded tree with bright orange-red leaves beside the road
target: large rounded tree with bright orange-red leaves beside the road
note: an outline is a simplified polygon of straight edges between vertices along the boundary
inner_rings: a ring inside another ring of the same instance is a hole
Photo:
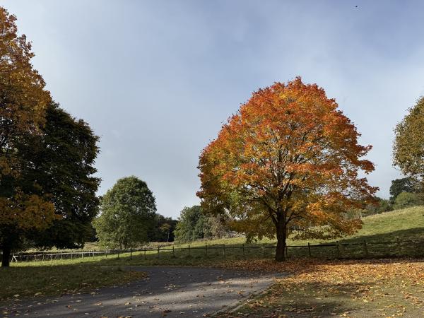
[[[201,205],[228,213],[247,238],[276,237],[276,261],[285,240],[340,237],[361,222],[347,212],[372,201],[377,188],[360,172],[371,146],[335,100],[316,84],[295,78],[258,90],[228,119],[199,160]]]

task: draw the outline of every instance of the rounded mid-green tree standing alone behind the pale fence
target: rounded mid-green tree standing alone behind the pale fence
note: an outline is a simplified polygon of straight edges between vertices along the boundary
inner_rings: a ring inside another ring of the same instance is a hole
[[[146,182],[134,176],[119,179],[102,197],[101,214],[93,223],[100,245],[126,249],[147,242],[155,212]]]

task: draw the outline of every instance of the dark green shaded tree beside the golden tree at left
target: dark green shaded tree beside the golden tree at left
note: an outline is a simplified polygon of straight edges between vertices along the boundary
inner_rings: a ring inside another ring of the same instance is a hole
[[[98,213],[96,196],[100,178],[93,175],[98,136],[82,119],[75,119],[52,104],[47,109],[42,138],[28,146],[32,163],[28,179],[37,179],[61,219],[35,232],[38,247],[76,248],[92,236],[91,222]]]

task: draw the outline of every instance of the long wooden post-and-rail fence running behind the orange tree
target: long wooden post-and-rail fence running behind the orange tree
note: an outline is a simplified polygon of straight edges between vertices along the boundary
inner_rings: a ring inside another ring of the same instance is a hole
[[[196,247],[143,247],[137,249],[108,249],[103,251],[75,252],[36,252],[13,254],[12,261],[52,261],[57,259],[84,259],[88,257],[108,257],[138,253],[141,259],[152,257],[222,257],[223,259],[240,259],[271,257],[276,245],[204,245]],[[256,251],[256,252],[255,252]],[[258,252],[259,251],[259,252]],[[271,251],[271,252],[270,252]],[[355,259],[371,257],[424,257],[424,240],[386,240],[362,242],[334,242],[320,245],[286,245],[287,257],[309,257],[326,259]]]

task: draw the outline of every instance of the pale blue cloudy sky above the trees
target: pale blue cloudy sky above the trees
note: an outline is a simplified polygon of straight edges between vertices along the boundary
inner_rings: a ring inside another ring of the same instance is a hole
[[[252,91],[302,76],[372,144],[389,196],[396,122],[424,95],[423,1],[0,0],[54,100],[100,136],[99,194],[136,175],[197,204],[199,153]],[[358,8],[355,8],[358,6]]]

